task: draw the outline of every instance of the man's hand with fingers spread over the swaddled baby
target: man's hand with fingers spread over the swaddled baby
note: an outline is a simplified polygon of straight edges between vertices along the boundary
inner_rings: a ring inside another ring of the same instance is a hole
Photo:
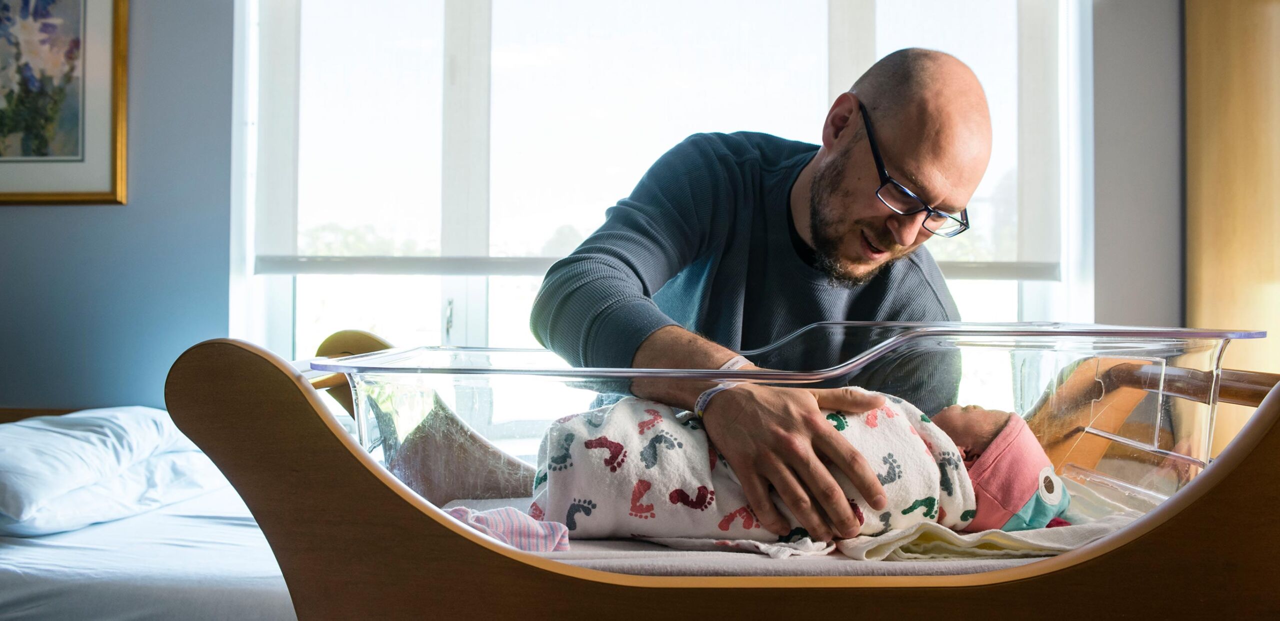
[[[884,509],[887,498],[876,471],[820,410],[861,413],[883,404],[883,396],[856,390],[742,383],[718,392],[703,419],[764,528],[778,535],[791,528],[769,498],[773,486],[815,540],[831,540],[856,537],[861,525],[824,463],[840,468],[872,509]]]

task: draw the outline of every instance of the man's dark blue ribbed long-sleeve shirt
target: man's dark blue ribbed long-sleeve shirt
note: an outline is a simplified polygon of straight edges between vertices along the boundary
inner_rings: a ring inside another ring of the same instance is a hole
[[[627,368],[669,325],[750,350],[822,321],[959,321],[924,248],[852,289],[800,257],[791,187],[817,151],[750,132],[686,138],[547,272],[539,342],[577,367]]]

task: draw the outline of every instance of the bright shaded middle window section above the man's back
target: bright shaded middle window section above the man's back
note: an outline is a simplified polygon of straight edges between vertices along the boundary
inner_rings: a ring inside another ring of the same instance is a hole
[[[690,134],[812,138],[826,27],[826,0],[494,0],[490,254],[568,254]]]

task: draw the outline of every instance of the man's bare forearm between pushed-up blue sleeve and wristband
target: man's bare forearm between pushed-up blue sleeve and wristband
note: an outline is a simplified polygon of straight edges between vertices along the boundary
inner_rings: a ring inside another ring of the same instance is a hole
[[[636,349],[631,367],[637,369],[718,369],[736,351],[703,339],[680,326],[666,326],[649,335]],[[751,368],[751,367],[748,367]],[[691,410],[709,381],[635,379],[631,394]]]

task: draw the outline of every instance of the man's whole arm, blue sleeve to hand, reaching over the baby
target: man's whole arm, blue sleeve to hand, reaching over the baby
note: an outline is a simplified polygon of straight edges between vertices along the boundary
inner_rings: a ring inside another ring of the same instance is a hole
[[[539,342],[575,367],[719,368],[732,358],[733,351],[680,328],[652,298],[727,234],[735,207],[728,202],[745,183],[740,175],[713,138],[690,137],[668,151],[628,198],[609,208],[605,224],[548,271],[530,318]],[[708,387],[664,382],[631,391],[691,409]],[[819,408],[865,411],[878,399],[740,385],[712,400],[707,431],[771,530],[788,529],[769,498],[772,484],[813,537],[852,537],[859,524],[822,459],[840,466],[873,509],[883,506],[883,488]]]

